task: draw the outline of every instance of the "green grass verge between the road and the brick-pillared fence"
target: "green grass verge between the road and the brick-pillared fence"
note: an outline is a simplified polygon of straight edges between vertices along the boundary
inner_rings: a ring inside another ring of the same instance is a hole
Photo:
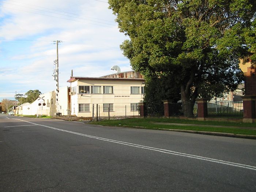
[[[159,123],[178,123],[178,124],[196,124],[196,125],[168,125]],[[255,123],[232,123],[221,121],[197,121],[197,120],[181,120],[172,118],[127,118],[121,120],[102,120],[94,121],[91,124],[103,125],[103,126],[119,126],[119,127],[133,127],[144,129],[182,129],[192,131],[208,131],[208,132],[221,132],[221,133],[233,133],[241,135],[256,135],[256,129],[246,129],[242,127],[255,127]],[[207,125],[207,126],[203,126]],[[219,125],[223,127],[214,127],[209,125]],[[225,127],[224,127],[225,126]],[[226,127],[230,126],[230,127]],[[241,127],[232,128],[231,126]]]

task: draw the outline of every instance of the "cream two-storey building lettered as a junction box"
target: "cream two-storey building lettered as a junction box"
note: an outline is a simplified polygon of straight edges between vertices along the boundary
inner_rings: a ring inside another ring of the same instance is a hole
[[[109,113],[110,116],[138,115],[138,103],[144,96],[144,79],[137,72],[99,78],[72,76],[68,82],[71,115],[92,117],[97,110],[101,117]]]

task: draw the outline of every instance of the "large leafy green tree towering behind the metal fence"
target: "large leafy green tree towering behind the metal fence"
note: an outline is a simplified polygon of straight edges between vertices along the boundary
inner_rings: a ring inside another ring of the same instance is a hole
[[[146,80],[169,76],[182,102],[236,89],[239,58],[255,52],[255,0],[109,0],[121,45]],[[251,35],[251,36],[250,36]],[[246,42],[247,41],[247,42]],[[164,99],[164,98],[163,98]]]

